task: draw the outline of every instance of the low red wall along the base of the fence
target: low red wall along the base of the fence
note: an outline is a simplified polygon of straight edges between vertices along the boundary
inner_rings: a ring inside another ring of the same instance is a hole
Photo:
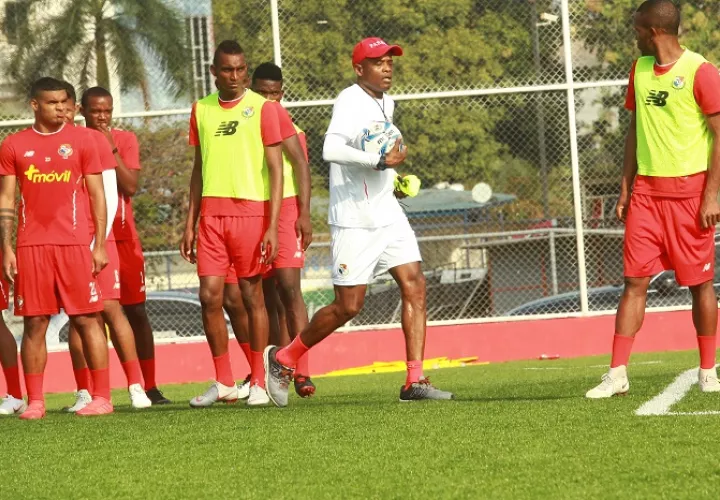
[[[608,354],[614,333],[614,316],[562,318],[435,326],[428,328],[427,358],[477,356],[479,361],[537,359],[542,354],[576,358]],[[240,380],[249,367],[237,343],[231,341],[233,373]],[[648,314],[633,352],[688,350],[697,347],[690,311]],[[111,384],[126,386],[120,363],[111,359]],[[156,347],[157,381],[160,385],[204,382],[213,379],[210,351],[203,342]],[[313,374],[371,365],[376,361],[404,360],[402,331],[370,330],[332,335],[312,350]],[[75,381],[67,352],[48,355],[46,392],[71,392]],[[5,394],[4,392],[2,394]]]

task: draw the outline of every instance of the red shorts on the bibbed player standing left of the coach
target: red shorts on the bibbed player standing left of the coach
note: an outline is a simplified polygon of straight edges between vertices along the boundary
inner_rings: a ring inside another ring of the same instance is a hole
[[[198,228],[198,276],[251,278],[267,271],[260,246],[266,217],[201,216]]]

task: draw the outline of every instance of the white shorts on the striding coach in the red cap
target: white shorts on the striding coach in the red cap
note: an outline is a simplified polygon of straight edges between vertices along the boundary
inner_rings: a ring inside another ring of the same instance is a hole
[[[394,267],[422,262],[407,219],[378,228],[330,226],[333,284],[367,285]]]

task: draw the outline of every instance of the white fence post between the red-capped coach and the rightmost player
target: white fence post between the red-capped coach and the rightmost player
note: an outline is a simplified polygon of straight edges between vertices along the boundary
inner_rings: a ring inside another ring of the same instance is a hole
[[[570,161],[573,176],[573,202],[575,206],[575,235],[578,253],[578,281],[580,282],[580,311],[588,312],[587,270],[585,268],[585,234],[580,195],[580,158],[577,143],[577,119],[575,116],[575,83],[572,64],[572,38],[570,36],[569,0],[562,0],[563,51],[565,54],[565,81],[567,82],[568,127],[570,132]]]

